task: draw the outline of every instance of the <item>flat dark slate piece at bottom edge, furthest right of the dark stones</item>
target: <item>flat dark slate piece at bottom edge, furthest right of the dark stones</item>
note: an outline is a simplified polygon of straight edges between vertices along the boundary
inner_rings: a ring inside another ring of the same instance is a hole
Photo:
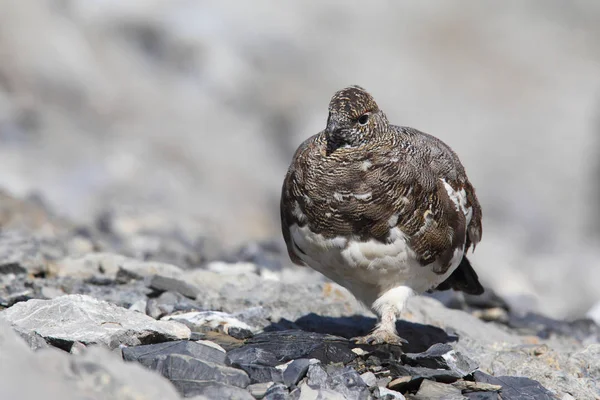
[[[476,382],[502,386],[503,400],[554,400],[556,397],[539,382],[533,379],[515,376],[491,376],[481,371],[473,373]]]

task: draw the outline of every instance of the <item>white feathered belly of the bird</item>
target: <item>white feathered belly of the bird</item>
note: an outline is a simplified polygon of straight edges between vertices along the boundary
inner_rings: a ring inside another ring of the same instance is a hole
[[[301,250],[296,253],[302,261],[347,288],[367,306],[398,286],[423,293],[439,285],[456,269],[463,256],[463,249],[457,249],[450,268],[439,275],[433,272],[435,263],[422,266],[417,261],[398,228],[391,230],[388,243],[343,237],[328,239],[311,232],[308,225],[292,225],[290,234],[294,245]]]

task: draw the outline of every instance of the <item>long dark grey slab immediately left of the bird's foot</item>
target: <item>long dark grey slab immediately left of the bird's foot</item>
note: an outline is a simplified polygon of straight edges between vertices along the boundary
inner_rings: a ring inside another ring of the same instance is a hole
[[[347,340],[304,331],[265,332],[246,343],[227,353],[231,364],[276,366],[297,358],[316,358],[328,364],[348,363],[356,358],[354,346]]]

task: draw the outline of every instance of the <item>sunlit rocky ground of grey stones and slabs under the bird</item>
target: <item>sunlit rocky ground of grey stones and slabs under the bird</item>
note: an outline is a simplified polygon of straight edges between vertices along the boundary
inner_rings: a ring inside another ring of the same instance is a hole
[[[443,292],[409,303],[403,349],[357,346],[373,315],[277,244],[0,197],[0,398],[600,398],[589,320]]]

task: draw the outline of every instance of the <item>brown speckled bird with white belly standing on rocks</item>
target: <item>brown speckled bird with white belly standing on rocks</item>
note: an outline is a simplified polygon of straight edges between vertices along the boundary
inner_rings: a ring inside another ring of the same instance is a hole
[[[285,175],[287,251],[374,311],[375,328],[356,343],[402,346],[396,321],[412,296],[483,293],[466,258],[482,237],[482,209],[450,146],[390,124],[361,86],[337,91],[328,112]]]

